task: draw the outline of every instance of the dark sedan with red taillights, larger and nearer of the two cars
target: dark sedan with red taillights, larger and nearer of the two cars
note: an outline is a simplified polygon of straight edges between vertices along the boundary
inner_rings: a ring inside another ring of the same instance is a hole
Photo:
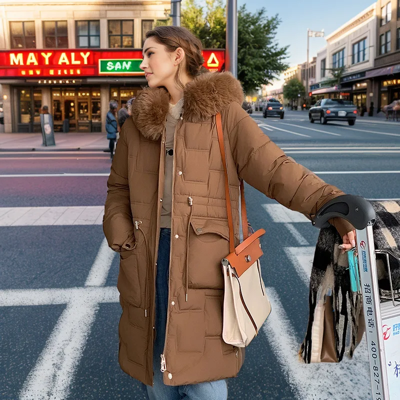
[[[308,111],[308,118],[311,123],[319,120],[324,125],[328,121],[347,121],[354,125],[357,117],[357,108],[348,100],[341,98],[322,98],[317,101]]]

